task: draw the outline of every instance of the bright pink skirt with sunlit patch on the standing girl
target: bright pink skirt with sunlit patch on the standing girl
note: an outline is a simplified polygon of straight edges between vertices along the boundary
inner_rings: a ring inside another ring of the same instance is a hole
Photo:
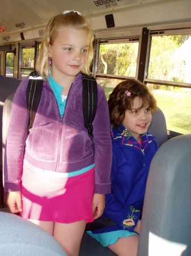
[[[93,221],[94,168],[74,177],[43,171],[24,160],[22,175],[23,218],[72,223]]]

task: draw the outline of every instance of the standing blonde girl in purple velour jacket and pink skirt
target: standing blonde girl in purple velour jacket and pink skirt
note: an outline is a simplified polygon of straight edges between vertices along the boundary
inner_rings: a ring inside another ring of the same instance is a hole
[[[104,90],[97,85],[93,142],[84,127],[82,73],[90,74],[94,34],[77,11],[50,19],[36,70],[43,90],[32,129],[24,79],[12,103],[5,191],[12,213],[41,226],[67,255],[78,255],[87,222],[101,216],[111,192],[111,137]]]

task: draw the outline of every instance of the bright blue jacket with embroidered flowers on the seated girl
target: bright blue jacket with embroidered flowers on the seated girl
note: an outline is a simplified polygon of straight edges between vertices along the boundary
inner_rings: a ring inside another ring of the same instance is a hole
[[[142,147],[122,125],[118,129],[113,128],[111,135],[112,192],[105,196],[106,206],[101,218],[108,217],[117,225],[93,230],[92,233],[120,229],[133,231],[141,218],[148,171],[158,150],[155,137],[148,132],[142,135]]]

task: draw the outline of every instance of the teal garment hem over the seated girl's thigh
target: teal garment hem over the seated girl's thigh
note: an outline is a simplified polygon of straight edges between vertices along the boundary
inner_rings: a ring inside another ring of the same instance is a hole
[[[128,230],[117,230],[100,234],[94,234],[91,231],[87,231],[87,233],[99,241],[104,247],[116,243],[120,237],[139,236],[137,233],[129,232]]]

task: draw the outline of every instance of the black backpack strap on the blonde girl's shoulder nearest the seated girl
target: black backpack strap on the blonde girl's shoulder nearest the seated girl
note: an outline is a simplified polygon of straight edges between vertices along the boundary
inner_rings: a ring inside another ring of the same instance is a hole
[[[88,135],[91,139],[94,137],[94,121],[97,109],[97,82],[94,77],[85,75],[83,77],[83,118],[84,126],[88,130]]]

